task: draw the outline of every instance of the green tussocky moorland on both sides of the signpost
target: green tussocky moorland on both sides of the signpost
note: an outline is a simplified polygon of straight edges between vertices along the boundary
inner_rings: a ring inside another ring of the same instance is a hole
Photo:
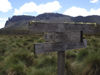
[[[66,51],[66,75],[100,74],[100,36],[85,36],[88,47]],[[0,75],[57,75],[57,53],[34,54],[41,35],[0,35]]]

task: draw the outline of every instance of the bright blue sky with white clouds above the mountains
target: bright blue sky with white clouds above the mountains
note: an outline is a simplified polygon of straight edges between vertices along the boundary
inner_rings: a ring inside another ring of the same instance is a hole
[[[100,0],[0,0],[0,28],[14,15],[61,13],[69,16],[100,15]]]

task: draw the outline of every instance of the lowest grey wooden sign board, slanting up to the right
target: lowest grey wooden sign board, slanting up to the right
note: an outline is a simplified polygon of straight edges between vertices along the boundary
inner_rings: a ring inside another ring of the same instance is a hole
[[[83,43],[37,43],[35,44],[35,53],[46,53],[55,51],[65,51],[71,49],[85,48],[87,42],[84,39]]]

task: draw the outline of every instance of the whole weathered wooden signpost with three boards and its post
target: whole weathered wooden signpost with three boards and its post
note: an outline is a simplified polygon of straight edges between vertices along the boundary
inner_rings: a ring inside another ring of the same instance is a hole
[[[83,39],[84,32],[93,32],[94,25],[75,23],[33,22],[29,25],[30,32],[45,33],[46,42],[35,44],[35,53],[58,53],[58,75],[65,75],[65,51],[80,49],[87,46]]]

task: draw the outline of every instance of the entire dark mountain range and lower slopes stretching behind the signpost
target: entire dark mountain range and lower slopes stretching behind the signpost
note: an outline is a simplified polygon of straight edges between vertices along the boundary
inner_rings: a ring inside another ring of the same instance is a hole
[[[96,23],[96,27],[94,28],[95,31],[93,35],[100,35],[100,16],[87,16],[87,17],[71,17],[59,13],[44,13],[38,16],[27,16],[27,15],[20,15],[20,16],[13,16],[9,18],[5,24],[5,27],[0,30],[0,34],[29,34],[29,23],[30,21],[40,21],[40,22],[50,22],[50,23],[63,23],[63,22],[85,22],[85,23]],[[84,32],[87,34],[87,32]]]

